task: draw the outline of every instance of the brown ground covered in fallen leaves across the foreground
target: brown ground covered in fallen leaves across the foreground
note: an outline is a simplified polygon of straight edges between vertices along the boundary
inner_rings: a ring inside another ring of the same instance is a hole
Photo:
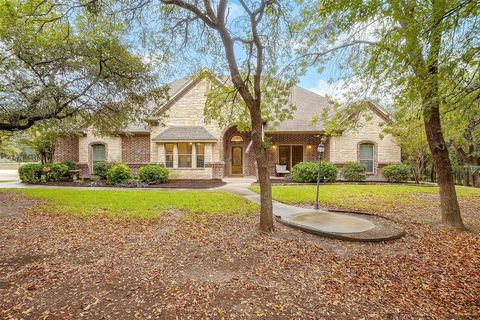
[[[479,318],[480,197],[461,200],[469,232],[429,222],[434,193],[408,197],[365,197],[407,235],[362,244],[261,234],[255,214],[50,214],[2,192],[0,318]]]

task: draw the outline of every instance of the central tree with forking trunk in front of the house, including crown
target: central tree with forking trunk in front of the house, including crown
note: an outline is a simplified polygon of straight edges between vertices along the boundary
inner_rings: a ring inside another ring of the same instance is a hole
[[[133,4],[129,2],[130,11],[138,13],[145,2]],[[267,163],[268,142],[264,140],[264,123],[289,109],[285,88],[293,83],[290,79],[275,78],[278,71],[278,61],[286,56],[280,54],[281,48],[291,47],[288,37],[287,1],[182,1],[160,0],[151,1],[153,8],[160,4],[161,25],[155,25],[155,40],[162,47],[181,47],[174,54],[180,58],[196,52],[194,57],[187,57],[188,65],[207,64],[215,69],[226,66],[229,76],[223,85],[217,86],[218,96],[209,95],[207,110],[212,111],[214,104],[221,106],[219,101],[230,101],[236,114],[248,115],[248,127],[251,132],[252,146],[257,163],[258,180],[260,183],[261,214],[260,229],[273,231],[272,194]],[[230,9],[238,6],[241,14],[232,17]],[[133,8],[133,9],[132,9]],[[131,11],[133,10],[133,11]],[[147,19],[151,19],[151,12],[147,11]],[[135,14],[132,14],[135,16]],[[143,19],[143,20],[147,20]],[[282,44],[283,41],[283,44]],[[189,45],[190,50],[185,50]],[[287,52],[288,50],[284,51]],[[200,63],[197,61],[201,60]],[[204,68],[202,66],[202,68]],[[220,76],[223,74],[220,73]],[[223,77],[220,77],[222,81]],[[277,92],[273,99],[265,93]],[[274,89],[275,88],[275,89]],[[219,98],[221,97],[221,98]],[[277,103],[268,104],[265,97]],[[286,107],[285,107],[286,106]],[[215,108],[213,108],[215,109]],[[222,112],[210,112],[210,116],[220,116]]]

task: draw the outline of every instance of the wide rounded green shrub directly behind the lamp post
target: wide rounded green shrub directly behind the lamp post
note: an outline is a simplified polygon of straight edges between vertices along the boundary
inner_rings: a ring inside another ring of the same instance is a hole
[[[318,163],[300,162],[293,166],[292,180],[295,182],[317,182]],[[326,161],[320,162],[320,182],[337,180],[337,168]]]

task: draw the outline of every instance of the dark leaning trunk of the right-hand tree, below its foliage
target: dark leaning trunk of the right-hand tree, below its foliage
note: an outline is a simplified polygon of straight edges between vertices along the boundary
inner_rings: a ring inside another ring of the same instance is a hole
[[[429,99],[427,104],[431,103],[431,101],[432,100]],[[423,118],[428,145],[432,152],[433,164],[437,173],[438,187],[440,189],[442,222],[448,226],[463,229],[464,225],[458,206],[448,149],[442,133],[438,106],[424,108]]]

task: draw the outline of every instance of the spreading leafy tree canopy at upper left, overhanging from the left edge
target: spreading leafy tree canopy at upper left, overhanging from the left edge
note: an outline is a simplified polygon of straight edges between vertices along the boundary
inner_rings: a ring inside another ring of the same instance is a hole
[[[2,0],[0,17],[0,130],[68,118],[114,130],[163,94],[96,1]]]

